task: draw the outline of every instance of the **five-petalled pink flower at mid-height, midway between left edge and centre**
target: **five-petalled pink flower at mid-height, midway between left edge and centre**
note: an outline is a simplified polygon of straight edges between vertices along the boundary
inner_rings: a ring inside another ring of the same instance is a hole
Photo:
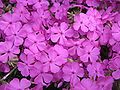
[[[45,37],[43,34],[30,33],[28,34],[24,45],[33,53],[38,53],[46,48]]]

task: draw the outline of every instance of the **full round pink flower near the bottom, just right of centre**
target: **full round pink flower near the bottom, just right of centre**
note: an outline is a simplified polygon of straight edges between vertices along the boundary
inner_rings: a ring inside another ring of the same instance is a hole
[[[83,77],[84,70],[80,67],[77,62],[67,63],[63,67],[63,79],[66,82],[70,82],[75,85]]]

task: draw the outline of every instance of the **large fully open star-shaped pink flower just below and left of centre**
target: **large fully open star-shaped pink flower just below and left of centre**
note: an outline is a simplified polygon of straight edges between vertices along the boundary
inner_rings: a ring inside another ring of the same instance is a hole
[[[67,59],[62,55],[57,55],[56,51],[50,49],[48,55],[45,53],[41,55],[41,62],[45,72],[51,71],[52,73],[57,73],[60,70],[60,66],[67,62]]]

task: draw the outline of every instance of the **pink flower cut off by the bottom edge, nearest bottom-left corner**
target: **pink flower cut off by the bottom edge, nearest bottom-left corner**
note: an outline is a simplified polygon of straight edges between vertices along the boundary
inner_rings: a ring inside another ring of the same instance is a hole
[[[26,78],[21,80],[14,78],[9,84],[9,90],[27,90],[31,85],[31,82]]]

